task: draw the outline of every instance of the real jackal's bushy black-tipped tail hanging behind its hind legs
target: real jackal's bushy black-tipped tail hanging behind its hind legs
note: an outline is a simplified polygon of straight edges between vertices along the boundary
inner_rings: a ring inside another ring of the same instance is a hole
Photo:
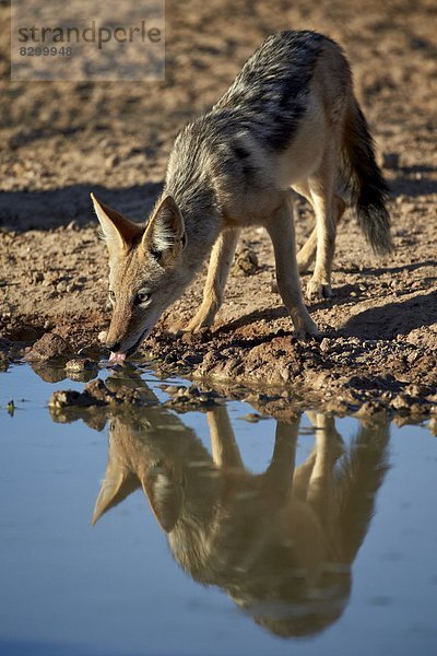
[[[347,109],[339,174],[339,192],[355,209],[374,251],[390,253],[390,215],[386,207],[389,189],[376,163],[367,120],[355,99]]]

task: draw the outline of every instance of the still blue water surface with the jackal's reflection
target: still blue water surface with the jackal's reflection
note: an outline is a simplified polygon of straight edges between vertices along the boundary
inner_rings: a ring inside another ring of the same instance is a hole
[[[83,384],[0,374],[1,655],[437,653],[426,426],[176,414],[142,380],[97,431],[47,409]]]

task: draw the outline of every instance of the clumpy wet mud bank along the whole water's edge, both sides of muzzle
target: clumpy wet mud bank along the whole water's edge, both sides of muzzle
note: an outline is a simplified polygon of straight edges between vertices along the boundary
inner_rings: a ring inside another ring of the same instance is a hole
[[[56,331],[45,332],[32,347],[3,340],[0,362],[5,371],[24,356],[45,380],[91,380],[82,394],[69,393],[68,387],[56,393],[50,407],[67,415],[69,408],[74,413],[78,408],[141,405],[139,376],[152,368],[163,379],[193,380],[190,388],[163,387],[169,407],[180,412],[234,398],[282,420],[308,408],[340,415],[388,413],[401,423],[437,418],[436,350],[414,343],[414,336],[367,340],[331,331],[303,341],[283,329],[267,336],[244,332],[218,329],[192,336],[157,330],[134,360],[111,367],[116,377],[131,379],[127,394],[102,387],[96,376],[106,368],[108,352],[98,343],[80,347],[73,335],[69,341]]]

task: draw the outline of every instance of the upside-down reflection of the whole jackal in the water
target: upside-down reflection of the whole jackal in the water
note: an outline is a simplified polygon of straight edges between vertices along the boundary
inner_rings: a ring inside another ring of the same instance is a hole
[[[162,407],[118,415],[93,524],[142,488],[175,560],[196,581],[226,590],[282,636],[335,622],[382,482],[387,424],[361,424],[346,447],[333,418],[308,413],[315,445],[295,466],[300,417],[277,423],[270,465],[243,462],[226,408],[208,412],[212,455]]]

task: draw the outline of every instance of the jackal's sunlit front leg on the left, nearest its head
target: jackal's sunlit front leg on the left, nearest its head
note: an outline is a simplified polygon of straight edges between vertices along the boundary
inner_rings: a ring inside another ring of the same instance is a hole
[[[211,251],[206,282],[203,290],[203,301],[198,314],[187,326],[187,331],[197,332],[201,328],[209,328],[222,305],[231,265],[237,247],[239,229],[228,229],[220,234]]]

